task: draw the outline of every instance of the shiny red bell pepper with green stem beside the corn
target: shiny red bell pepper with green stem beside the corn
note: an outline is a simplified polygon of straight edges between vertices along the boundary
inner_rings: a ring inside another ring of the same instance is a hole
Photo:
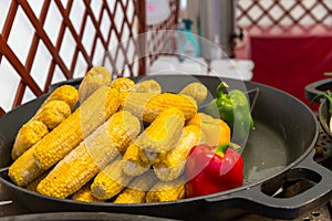
[[[187,197],[199,197],[237,188],[243,183],[243,160],[235,144],[206,144],[191,148],[186,162]]]

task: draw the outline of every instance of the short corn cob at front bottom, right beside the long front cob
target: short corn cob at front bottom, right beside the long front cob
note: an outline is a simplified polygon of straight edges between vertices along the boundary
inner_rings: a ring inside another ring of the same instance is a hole
[[[133,179],[122,171],[122,160],[115,159],[97,173],[91,185],[91,191],[100,200],[107,200],[120,193]]]

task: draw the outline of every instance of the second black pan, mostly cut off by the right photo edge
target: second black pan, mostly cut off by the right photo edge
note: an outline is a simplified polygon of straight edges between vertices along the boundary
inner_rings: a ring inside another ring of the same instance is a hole
[[[326,93],[332,90],[332,78],[320,80],[305,86],[305,97],[311,101],[315,95]],[[332,131],[329,124],[331,114],[329,112],[330,105],[326,98],[322,97],[315,102],[320,103],[318,116],[324,133],[332,139]]]

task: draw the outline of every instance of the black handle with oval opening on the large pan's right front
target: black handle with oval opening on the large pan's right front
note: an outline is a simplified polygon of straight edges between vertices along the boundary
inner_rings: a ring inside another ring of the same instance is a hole
[[[314,209],[332,197],[332,171],[313,161],[314,150],[299,165],[294,166],[287,175],[277,176],[271,180],[252,186],[242,191],[230,194],[206,198],[209,209],[236,209],[241,208],[250,213],[255,212],[273,219],[295,219],[299,215]],[[298,180],[310,178],[312,187],[304,192],[290,198],[271,197],[262,190],[266,186],[273,186],[278,180],[291,177]],[[226,208],[225,208],[226,207]]]

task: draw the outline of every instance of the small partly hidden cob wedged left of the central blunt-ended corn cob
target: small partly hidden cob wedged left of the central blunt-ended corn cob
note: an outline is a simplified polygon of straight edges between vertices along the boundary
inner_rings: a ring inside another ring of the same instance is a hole
[[[139,147],[132,143],[123,156],[122,170],[127,176],[136,177],[148,170],[149,164],[145,164],[138,156]]]

